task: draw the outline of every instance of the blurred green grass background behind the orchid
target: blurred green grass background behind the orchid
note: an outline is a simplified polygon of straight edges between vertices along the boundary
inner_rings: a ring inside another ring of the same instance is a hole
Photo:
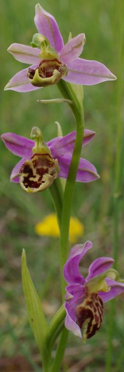
[[[60,26],[64,42],[69,31],[72,37],[85,32],[87,42],[83,58],[106,64],[118,76],[119,11],[114,0],[43,0],[41,5],[52,13]],[[44,139],[57,135],[55,121],[62,125],[63,134],[74,129],[74,121],[66,104],[41,105],[37,99],[60,97],[56,86],[26,94],[3,91],[8,80],[27,65],[17,62],[7,47],[13,43],[27,44],[36,32],[35,0],[1,0],[1,121],[0,134],[13,131],[30,136],[32,126],[38,125]],[[122,77],[123,78],[123,77]],[[90,184],[76,184],[72,215],[84,224],[80,242],[92,240],[93,250],[82,263],[86,267],[99,255],[113,251],[113,190],[117,132],[117,81],[84,87],[85,125],[96,136],[83,150],[83,156],[97,168],[101,178]],[[122,120],[124,112],[122,110]],[[61,303],[59,274],[59,241],[40,238],[34,232],[35,223],[53,212],[49,190],[26,194],[19,185],[9,182],[9,175],[18,158],[0,142],[0,371],[40,371],[38,354],[29,328],[21,285],[20,257],[26,249],[28,266],[48,319]],[[118,267],[124,276],[123,210],[119,214]],[[86,345],[70,334],[62,371],[105,371],[108,348],[110,305],[105,305],[102,328]],[[114,372],[124,371],[124,295],[116,299],[116,318],[113,339]]]

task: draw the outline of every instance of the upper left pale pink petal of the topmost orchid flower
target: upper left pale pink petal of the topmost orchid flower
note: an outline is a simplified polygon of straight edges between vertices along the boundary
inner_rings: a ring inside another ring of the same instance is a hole
[[[40,63],[40,49],[38,48],[32,48],[28,45],[14,43],[10,45],[7,51],[11,53],[17,61],[29,64],[37,63],[38,65]]]

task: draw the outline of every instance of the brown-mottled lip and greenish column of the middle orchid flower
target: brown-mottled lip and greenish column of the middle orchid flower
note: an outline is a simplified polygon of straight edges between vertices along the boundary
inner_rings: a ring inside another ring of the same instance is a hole
[[[37,126],[32,128],[31,138],[35,141],[35,146],[32,148],[33,155],[20,168],[20,186],[27,192],[43,191],[53,184],[60,168],[58,160],[53,159]]]

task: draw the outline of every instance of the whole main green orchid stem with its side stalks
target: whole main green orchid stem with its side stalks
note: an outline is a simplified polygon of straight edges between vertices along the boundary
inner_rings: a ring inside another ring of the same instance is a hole
[[[76,121],[76,138],[75,138],[75,145],[72,154],[72,159],[69,167],[68,177],[64,189],[64,195],[62,198],[62,189],[60,185],[53,184],[51,187],[51,194],[54,200],[54,205],[57,211],[58,221],[61,226],[61,249],[60,249],[60,269],[61,269],[61,285],[62,285],[62,302],[64,301],[64,293],[65,293],[65,282],[63,279],[63,265],[66,261],[67,254],[68,254],[68,235],[69,235],[69,221],[70,221],[70,213],[71,213],[71,204],[76,180],[76,174],[79,164],[79,159],[81,155],[82,149],[82,142],[83,142],[83,131],[84,131],[84,115],[83,115],[83,91],[81,86],[74,86],[71,84],[67,84],[64,81],[60,81],[58,83],[59,89],[62,92],[64,98],[70,99],[73,104],[70,105],[70,108],[73,112]],[[57,180],[56,180],[57,181]],[[60,191],[61,190],[61,191]],[[63,319],[65,316],[65,310],[62,308],[58,311],[55,315],[54,319],[52,320],[48,335],[47,335],[47,346],[50,348],[53,346],[57,336],[62,330],[63,327]],[[62,359],[64,355],[64,350],[66,347],[68,337],[68,331],[63,329],[59,345],[56,352],[56,357],[51,369],[51,372],[59,372]]]

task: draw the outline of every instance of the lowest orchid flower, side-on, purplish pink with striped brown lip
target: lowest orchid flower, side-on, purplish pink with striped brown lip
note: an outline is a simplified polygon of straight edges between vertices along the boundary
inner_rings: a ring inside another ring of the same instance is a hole
[[[110,257],[95,259],[89,266],[85,279],[80,274],[79,262],[90,248],[90,241],[74,246],[63,267],[63,276],[68,283],[65,294],[65,327],[76,336],[83,335],[84,342],[101,326],[103,303],[124,292],[124,280],[119,278],[116,270],[111,269],[114,260]]]

